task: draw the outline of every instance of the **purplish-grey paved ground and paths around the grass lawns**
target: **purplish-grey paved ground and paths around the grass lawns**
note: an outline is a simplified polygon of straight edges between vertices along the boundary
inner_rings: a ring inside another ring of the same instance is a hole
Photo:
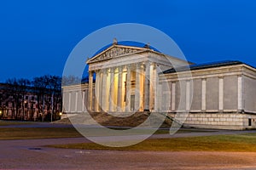
[[[22,126],[67,127],[69,125],[32,124]],[[174,136],[157,134],[151,138],[177,138],[247,132],[253,131],[177,133]],[[0,140],[0,169],[148,170],[255,169],[256,167],[256,153],[252,152],[70,150],[45,147],[45,145],[49,144],[82,142],[90,141],[85,138]]]

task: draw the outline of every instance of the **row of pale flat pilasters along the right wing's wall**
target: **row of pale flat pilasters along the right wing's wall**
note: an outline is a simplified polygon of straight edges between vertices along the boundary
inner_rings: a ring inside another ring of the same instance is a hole
[[[183,88],[183,100],[179,102],[184,102],[183,111],[190,111],[192,103],[191,83],[192,81],[184,81],[185,88]],[[155,95],[156,111],[177,111],[177,95],[181,95],[181,92],[177,94],[176,90],[177,82],[162,82],[158,86],[160,93]],[[218,111],[224,111],[224,77],[218,77]],[[180,89],[181,90],[181,89]],[[241,76],[237,77],[237,110],[242,111],[244,109],[244,82]],[[194,94],[196,95],[196,94]],[[179,97],[180,99],[181,97]],[[235,100],[236,102],[236,100]],[[207,111],[207,78],[201,79],[201,111]]]

